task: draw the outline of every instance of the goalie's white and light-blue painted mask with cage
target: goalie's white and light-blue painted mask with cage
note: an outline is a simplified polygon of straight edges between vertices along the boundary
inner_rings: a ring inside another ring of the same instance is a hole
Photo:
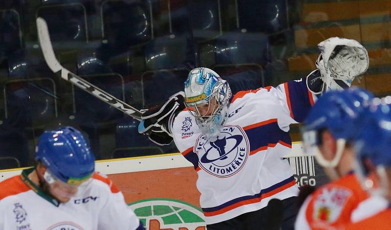
[[[185,81],[185,105],[206,138],[217,135],[228,117],[231,89],[215,71],[196,68]]]

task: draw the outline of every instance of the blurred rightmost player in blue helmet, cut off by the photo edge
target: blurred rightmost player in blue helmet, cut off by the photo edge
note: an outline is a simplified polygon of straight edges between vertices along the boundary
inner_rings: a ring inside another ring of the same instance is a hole
[[[355,170],[370,197],[351,216],[348,230],[390,229],[391,218],[391,97],[375,98],[361,115],[354,137]]]

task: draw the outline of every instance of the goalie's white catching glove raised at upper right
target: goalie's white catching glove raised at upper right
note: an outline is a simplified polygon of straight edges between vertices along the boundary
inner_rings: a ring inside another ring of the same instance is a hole
[[[350,87],[355,77],[369,67],[367,49],[352,39],[333,37],[318,44],[321,54],[316,61],[323,80],[323,93]]]

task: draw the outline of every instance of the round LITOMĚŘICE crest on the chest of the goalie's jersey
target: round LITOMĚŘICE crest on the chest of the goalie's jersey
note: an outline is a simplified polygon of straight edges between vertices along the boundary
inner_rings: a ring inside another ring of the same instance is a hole
[[[225,125],[215,140],[201,135],[195,144],[199,165],[220,178],[230,177],[243,167],[249,155],[249,141],[239,126]]]

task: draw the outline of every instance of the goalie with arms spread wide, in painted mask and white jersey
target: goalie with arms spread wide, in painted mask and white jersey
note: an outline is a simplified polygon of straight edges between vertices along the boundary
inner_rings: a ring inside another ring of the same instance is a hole
[[[174,140],[194,165],[208,229],[268,226],[262,213],[274,198],[282,200],[282,228],[293,227],[298,188],[282,160],[292,146],[289,125],[304,120],[317,94],[348,88],[369,64],[366,49],[354,40],[332,38],[319,47],[322,71],[235,95],[217,72],[193,69],[184,92],[143,114],[139,133],[161,145]]]

